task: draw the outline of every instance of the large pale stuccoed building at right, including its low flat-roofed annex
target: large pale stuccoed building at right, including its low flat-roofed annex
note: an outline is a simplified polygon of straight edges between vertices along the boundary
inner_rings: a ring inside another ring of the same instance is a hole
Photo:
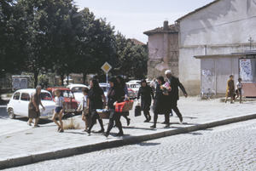
[[[255,84],[252,92],[256,90],[255,11],[255,0],[215,0],[176,21],[178,73],[189,94],[199,94],[203,88],[225,94],[229,76],[234,75],[236,83],[242,77],[241,59],[248,58],[252,79],[247,83]]]

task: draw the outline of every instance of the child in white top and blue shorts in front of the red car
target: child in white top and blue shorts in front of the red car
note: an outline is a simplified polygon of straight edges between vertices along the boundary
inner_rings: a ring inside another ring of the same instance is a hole
[[[61,96],[61,90],[59,88],[55,89],[55,113],[54,116],[52,117],[52,120],[58,125],[58,132],[63,133],[63,123],[62,123],[62,113],[65,110],[65,101],[64,98]],[[59,118],[58,123],[56,121],[56,117]]]

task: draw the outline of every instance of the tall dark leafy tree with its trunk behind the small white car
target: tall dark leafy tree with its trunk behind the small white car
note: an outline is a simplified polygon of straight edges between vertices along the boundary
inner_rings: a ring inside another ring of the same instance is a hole
[[[42,69],[68,73],[75,47],[71,17],[77,12],[70,0],[20,0],[26,20],[27,70],[34,73],[34,86]]]

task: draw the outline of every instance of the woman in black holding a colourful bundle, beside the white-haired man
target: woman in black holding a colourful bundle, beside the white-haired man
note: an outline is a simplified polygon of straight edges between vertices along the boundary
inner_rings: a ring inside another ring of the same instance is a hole
[[[165,82],[164,77],[157,77],[158,84],[155,89],[155,96],[154,96],[154,125],[152,125],[150,128],[156,128],[156,122],[158,118],[158,114],[165,114],[169,115],[170,113],[170,107],[168,106],[169,97],[168,93],[164,92],[163,89],[160,88],[160,86]],[[168,117],[169,118],[169,117]],[[166,127],[169,127],[170,123],[169,120],[166,121]]]

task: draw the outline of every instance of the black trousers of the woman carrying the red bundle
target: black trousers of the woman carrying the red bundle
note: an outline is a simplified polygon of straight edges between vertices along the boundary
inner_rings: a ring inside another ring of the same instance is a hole
[[[110,109],[110,115],[109,115],[109,123],[108,123],[108,130],[107,134],[110,133],[111,129],[113,128],[113,121],[115,122],[115,125],[117,128],[119,128],[119,133],[123,133],[122,123],[120,122],[120,113],[115,112],[114,109]]]

